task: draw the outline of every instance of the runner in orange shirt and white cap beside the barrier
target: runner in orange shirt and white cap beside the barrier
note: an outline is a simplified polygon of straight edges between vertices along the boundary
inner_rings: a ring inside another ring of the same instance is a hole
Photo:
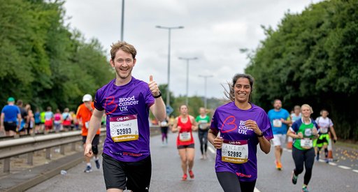
[[[85,94],[83,96],[83,103],[77,109],[76,118],[82,127],[82,141],[85,147],[88,127],[90,124],[90,119],[92,117],[92,112],[94,110],[94,103],[92,102],[92,96],[90,94]],[[94,154],[94,162],[96,163],[96,168],[99,169],[99,158],[98,158],[98,145],[99,145],[99,134],[101,133],[101,129],[98,129],[94,139],[92,140],[92,152]],[[92,172],[92,165],[90,162],[91,158],[85,156],[85,161],[87,163],[85,172]]]

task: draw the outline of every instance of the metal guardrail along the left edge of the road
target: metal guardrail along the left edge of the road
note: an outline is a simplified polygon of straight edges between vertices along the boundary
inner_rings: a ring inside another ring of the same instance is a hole
[[[101,136],[106,135],[106,128],[101,128]],[[64,154],[65,145],[72,144],[71,150],[76,150],[76,142],[82,141],[81,131],[38,135],[29,138],[0,141],[0,159],[3,159],[3,172],[10,172],[10,158],[27,154],[27,163],[33,164],[34,152],[45,149],[46,158],[50,159],[51,147],[58,147]]]

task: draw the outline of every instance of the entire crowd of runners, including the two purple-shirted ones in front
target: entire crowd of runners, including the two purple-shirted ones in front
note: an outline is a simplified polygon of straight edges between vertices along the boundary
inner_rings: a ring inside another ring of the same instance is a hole
[[[69,131],[81,128],[85,148],[85,172],[92,172],[90,159],[94,156],[96,168],[99,163],[99,128],[106,125],[103,144],[103,177],[107,191],[149,191],[152,173],[150,157],[149,114],[159,121],[162,143],[168,142],[168,131],[177,133],[176,145],[180,156],[182,181],[194,179],[195,144],[193,131],[199,135],[201,159],[208,158],[210,142],[215,149],[215,172],[224,191],[254,191],[257,182],[257,145],[265,154],[275,156],[274,165],[282,170],[282,148],[292,147],[295,165],[292,184],[303,172],[302,191],[308,191],[313,164],[320,159],[323,148],[324,161],[329,162],[328,149],[337,137],[334,126],[322,110],[313,120],[310,105],[294,106],[291,113],[282,108],[279,99],[273,101],[273,109],[267,113],[251,102],[254,78],[236,74],[227,90],[228,102],[218,107],[213,115],[200,108],[198,117],[189,115],[187,105],[180,105],[180,115],[169,118],[162,100],[162,93],[152,75],[148,82],[138,80],[131,74],[136,64],[136,49],[125,42],[113,43],[110,65],[115,79],[96,91],[83,96],[83,104],[77,112],[64,109],[55,113],[50,107],[45,112],[32,112],[22,106],[22,101],[8,98],[8,105],[1,110],[1,131],[6,135],[25,134],[34,131]]]

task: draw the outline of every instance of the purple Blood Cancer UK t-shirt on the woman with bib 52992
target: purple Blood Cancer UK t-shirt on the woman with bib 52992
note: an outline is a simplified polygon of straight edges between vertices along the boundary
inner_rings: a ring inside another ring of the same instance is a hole
[[[241,110],[237,108],[234,102],[220,106],[215,110],[210,126],[210,129],[215,133],[220,131],[220,136],[224,138],[224,142],[227,142],[227,144],[232,144],[233,142],[240,144],[231,145],[231,147],[236,146],[234,147],[236,150],[231,150],[233,148],[229,149],[230,147],[224,148],[224,145],[222,149],[217,149],[215,171],[233,172],[238,175],[239,180],[243,182],[252,182],[257,179],[256,152],[257,144],[259,144],[255,132],[252,129],[245,127],[245,121],[256,121],[260,130],[264,133],[264,137],[267,140],[273,138],[270,120],[268,119],[266,112],[257,105],[250,104],[252,105],[252,108],[249,110]],[[241,163],[222,161],[222,151],[226,156],[230,156],[228,159],[237,159]],[[241,157],[241,155],[243,156]],[[240,158],[236,158],[239,156]]]

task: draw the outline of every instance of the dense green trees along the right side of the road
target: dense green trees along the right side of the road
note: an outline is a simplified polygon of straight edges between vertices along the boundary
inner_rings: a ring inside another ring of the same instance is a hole
[[[245,69],[255,77],[254,100],[266,110],[308,103],[330,111],[337,134],[358,140],[358,1],[323,1],[301,14],[286,13]]]

